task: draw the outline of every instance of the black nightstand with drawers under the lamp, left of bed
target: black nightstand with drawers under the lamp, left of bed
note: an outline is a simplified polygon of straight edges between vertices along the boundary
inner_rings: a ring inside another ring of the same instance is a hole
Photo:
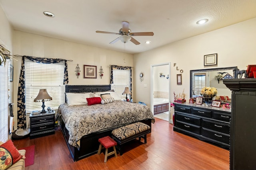
[[[30,113],[30,139],[52,135],[55,133],[55,111],[46,113]]]

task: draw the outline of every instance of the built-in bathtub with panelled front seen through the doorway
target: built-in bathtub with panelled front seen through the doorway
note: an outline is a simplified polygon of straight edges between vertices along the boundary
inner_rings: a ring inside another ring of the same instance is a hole
[[[165,98],[154,98],[154,115],[169,111],[169,100]]]

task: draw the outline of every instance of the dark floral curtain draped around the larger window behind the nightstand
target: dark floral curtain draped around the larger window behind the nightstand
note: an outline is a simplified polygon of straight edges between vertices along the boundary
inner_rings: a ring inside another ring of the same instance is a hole
[[[22,64],[20,68],[20,80],[18,86],[18,105],[17,105],[17,129],[25,129],[26,126],[26,101],[25,101],[25,60],[28,59],[30,61],[34,61],[36,63],[43,63],[43,64],[53,64],[53,63],[60,63],[62,61],[65,62],[64,68],[64,82],[63,84],[68,84],[68,64],[67,61],[64,59],[50,59],[50,58],[40,58],[40,57],[30,57],[30,56],[22,56]]]

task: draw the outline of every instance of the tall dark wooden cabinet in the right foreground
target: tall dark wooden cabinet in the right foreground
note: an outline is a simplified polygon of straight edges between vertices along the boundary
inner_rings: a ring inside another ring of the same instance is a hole
[[[256,169],[256,78],[224,79],[232,90],[230,169]]]

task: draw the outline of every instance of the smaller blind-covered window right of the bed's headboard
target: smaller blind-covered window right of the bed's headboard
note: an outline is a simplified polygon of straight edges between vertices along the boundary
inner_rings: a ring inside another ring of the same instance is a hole
[[[131,79],[130,79],[131,70],[119,70],[113,68],[113,81],[112,89],[118,94],[121,100],[126,100],[126,95],[122,95],[124,88],[129,87],[131,90]],[[130,95],[127,95],[130,100]]]

